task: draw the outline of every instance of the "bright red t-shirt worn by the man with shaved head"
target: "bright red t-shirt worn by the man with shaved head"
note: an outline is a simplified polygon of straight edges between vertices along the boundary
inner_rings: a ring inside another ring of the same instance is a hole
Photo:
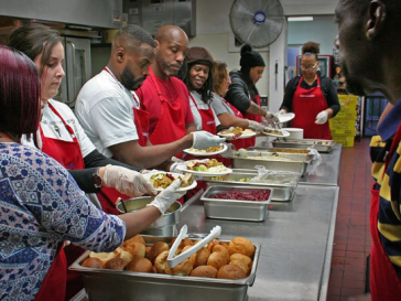
[[[184,118],[185,125],[193,123],[194,117],[189,108],[189,94],[185,84],[174,76],[171,76],[167,80],[160,79],[159,77],[155,78],[162,95],[172,104],[177,99],[177,95],[180,95],[183,101],[181,116]],[[174,80],[175,85],[171,80]],[[147,77],[143,85],[136,93],[141,100],[141,109],[149,112],[149,135],[151,135],[159,121],[161,101],[156,87],[150,76]]]

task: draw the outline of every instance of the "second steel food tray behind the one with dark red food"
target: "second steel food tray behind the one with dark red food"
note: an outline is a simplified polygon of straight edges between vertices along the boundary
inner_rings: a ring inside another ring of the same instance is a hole
[[[260,151],[247,151],[248,158],[234,157],[231,164],[234,169],[254,169],[256,165],[262,165],[267,170],[273,171],[291,171],[299,172],[301,175],[305,175],[307,166],[311,163],[311,159],[306,159],[305,154],[299,153],[280,153],[281,157],[291,159],[292,161],[278,161],[274,159],[250,159],[258,158],[260,155],[271,155],[270,152]]]

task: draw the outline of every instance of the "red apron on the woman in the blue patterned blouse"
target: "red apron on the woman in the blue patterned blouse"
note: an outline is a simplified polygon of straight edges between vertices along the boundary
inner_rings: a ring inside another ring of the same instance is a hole
[[[65,283],[67,282],[66,270],[67,261],[63,246],[57,251],[42,286],[36,293],[35,301],[63,301],[65,295]]]

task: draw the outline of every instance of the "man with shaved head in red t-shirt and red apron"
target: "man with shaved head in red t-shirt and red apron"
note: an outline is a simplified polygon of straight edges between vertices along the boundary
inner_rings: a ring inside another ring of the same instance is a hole
[[[155,60],[137,95],[142,110],[149,114],[149,139],[152,144],[161,144],[175,141],[196,128],[188,90],[173,76],[183,64],[188,37],[178,26],[164,25],[158,31],[155,42]]]

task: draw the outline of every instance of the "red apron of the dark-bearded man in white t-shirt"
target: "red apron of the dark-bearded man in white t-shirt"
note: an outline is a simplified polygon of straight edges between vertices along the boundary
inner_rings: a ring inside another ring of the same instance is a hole
[[[105,68],[105,71],[108,72],[117,80],[115,75],[110,73],[108,68]],[[132,94],[132,97],[139,107],[139,99],[137,99],[137,96],[134,94]],[[148,119],[149,114],[144,110],[141,110],[140,108],[139,109],[132,108],[132,114],[133,114],[133,122],[137,128],[138,143],[141,147],[145,147],[148,141],[147,135],[149,132],[149,119]],[[97,197],[99,198],[102,211],[113,215],[120,214],[120,212],[116,208],[116,202],[118,197],[121,197],[122,200],[131,198],[131,196],[122,194],[116,189],[111,187],[102,187],[101,191],[97,193]]]

